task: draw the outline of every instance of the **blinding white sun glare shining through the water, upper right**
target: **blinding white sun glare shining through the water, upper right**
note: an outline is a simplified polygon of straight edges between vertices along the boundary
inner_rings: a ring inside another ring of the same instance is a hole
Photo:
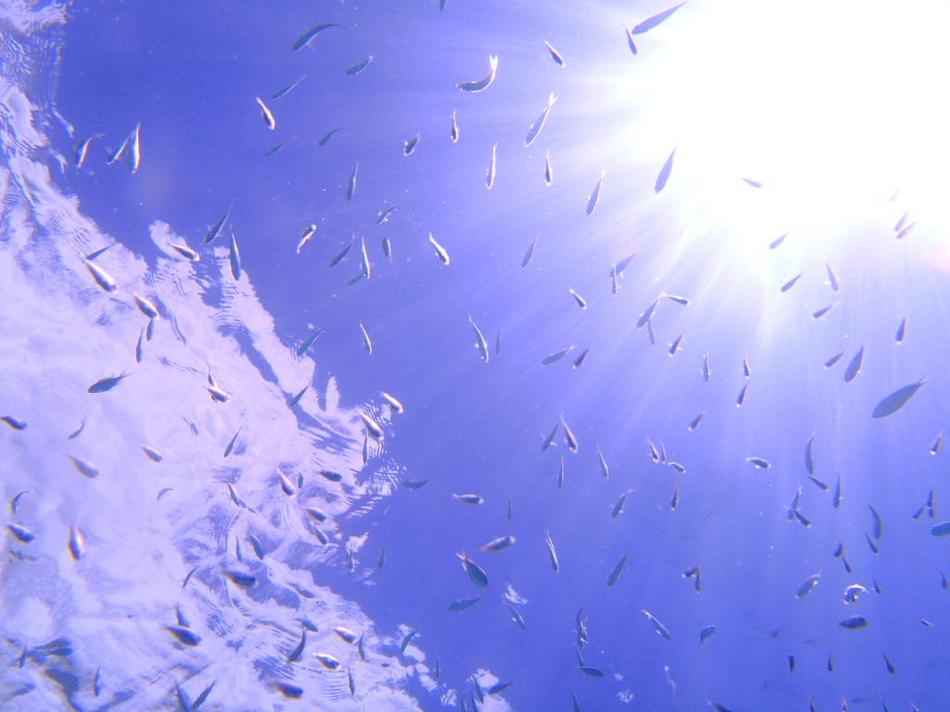
[[[640,36],[631,143],[657,170],[675,147],[670,187],[716,213],[757,192],[809,239],[904,210],[950,227],[948,26],[933,0],[693,0]]]

